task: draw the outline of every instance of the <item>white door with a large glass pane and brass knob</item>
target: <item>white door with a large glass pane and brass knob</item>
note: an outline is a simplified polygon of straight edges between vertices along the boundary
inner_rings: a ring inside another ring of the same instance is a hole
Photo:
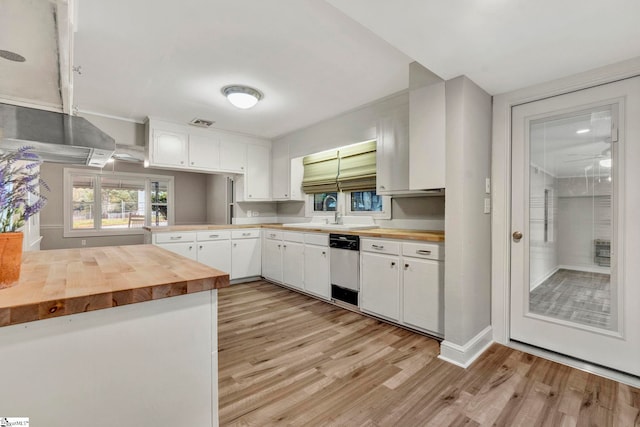
[[[512,111],[510,337],[640,375],[640,78]]]

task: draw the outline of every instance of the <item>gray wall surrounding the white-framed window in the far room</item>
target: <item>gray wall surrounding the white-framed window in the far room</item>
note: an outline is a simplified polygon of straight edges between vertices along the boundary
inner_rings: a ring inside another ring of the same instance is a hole
[[[131,245],[143,242],[142,235],[109,236],[109,237],[63,237],[63,169],[95,168],[44,163],[41,166],[42,179],[51,187],[47,194],[48,203],[40,213],[40,234],[43,236],[42,249],[61,249],[81,247],[82,240],[86,246]],[[144,168],[139,163],[114,162],[108,165],[109,170],[117,172],[133,172],[153,175],[171,175],[175,185],[175,224],[204,224],[207,219],[206,175]]]

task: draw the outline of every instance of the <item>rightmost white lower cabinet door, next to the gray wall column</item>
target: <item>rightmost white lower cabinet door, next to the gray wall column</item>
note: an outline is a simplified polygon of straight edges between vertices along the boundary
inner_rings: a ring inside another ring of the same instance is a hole
[[[403,322],[444,333],[444,268],[441,261],[403,260]]]

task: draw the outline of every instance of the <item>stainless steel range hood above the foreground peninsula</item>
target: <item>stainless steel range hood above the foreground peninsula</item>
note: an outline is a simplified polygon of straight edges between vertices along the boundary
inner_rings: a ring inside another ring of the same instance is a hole
[[[0,104],[0,150],[31,146],[45,162],[104,167],[116,142],[88,120]]]

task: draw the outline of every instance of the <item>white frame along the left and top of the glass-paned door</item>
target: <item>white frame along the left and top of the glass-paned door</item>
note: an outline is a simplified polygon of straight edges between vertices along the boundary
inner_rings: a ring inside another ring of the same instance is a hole
[[[635,76],[640,76],[640,57],[494,97],[491,150],[491,323],[494,341],[522,347],[509,338],[512,108]],[[558,359],[584,368],[584,363],[572,363],[562,357]]]

